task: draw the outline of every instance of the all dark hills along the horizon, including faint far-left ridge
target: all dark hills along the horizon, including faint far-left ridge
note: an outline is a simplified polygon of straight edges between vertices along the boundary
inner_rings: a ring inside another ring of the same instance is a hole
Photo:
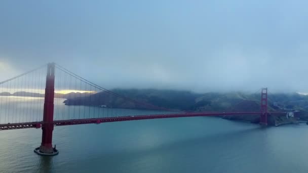
[[[146,102],[148,104],[182,111],[192,112],[211,112],[211,111],[260,111],[260,94],[249,94],[243,92],[229,93],[194,93],[189,91],[175,90],[154,90],[154,89],[114,89],[114,93],[131,98],[138,102]],[[44,94],[15,92],[0,93],[0,96],[20,96],[20,97],[44,97]],[[127,108],[127,109],[150,109],[135,102],[127,101],[119,97],[100,93],[55,93],[55,98],[64,98],[65,105],[85,105],[85,106],[101,106],[109,108]],[[268,95],[269,111],[291,111],[296,110],[296,116],[301,120],[308,120],[308,96],[298,93],[289,94],[271,94]],[[238,115],[224,116],[226,119],[245,120],[258,123],[258,115]],[[282,116],[270,116],[268,123],[279,125],[285,123],[294,123],[294,119],[286,119]]]

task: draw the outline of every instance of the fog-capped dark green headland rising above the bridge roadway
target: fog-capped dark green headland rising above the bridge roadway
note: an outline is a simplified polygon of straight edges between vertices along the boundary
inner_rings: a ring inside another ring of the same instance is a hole
[[[259,111],[260,94],[242,92],[229,93],[193,93],[189,91],[155,90],[155,89],[114,89],[114,93],[139,102],[183,111]],[[106,105],[113,108],[140,108],[135,103],[112,96],[107,93],[96,93],[86,97],[72,97],[64,101],[66,105]],[[269,94],[269,109],[283,108],[307,110],[308,96],[297,93]]]

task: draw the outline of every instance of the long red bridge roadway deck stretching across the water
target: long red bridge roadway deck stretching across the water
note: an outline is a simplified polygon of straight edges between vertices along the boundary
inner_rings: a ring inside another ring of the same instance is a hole
[[[268,112],[267,114],[284,114],[286,112]],[[179,117],[196,117],[196,116],[224,116],[224,115],[261,115],[262,112],[194,112],[194,113],[174,113],[174,114],[155,114],[155,115],[134,115],[134,116],[114,116],[104,118],[88,118],[88,119],[70,119],[70,120],[54,120],[54,126],[60,125],[77,125],[92,124],[103,122],[131,121],[142,119],[159,119],[159,118],[179,118]],[[0,124],[0,131],[6,129],[20,128],[41,128],[46,122],[23,122],[23,123],[7,123]]]

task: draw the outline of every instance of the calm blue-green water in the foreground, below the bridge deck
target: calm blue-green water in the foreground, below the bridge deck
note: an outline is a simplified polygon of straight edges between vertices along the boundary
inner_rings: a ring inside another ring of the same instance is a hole
[[[33,152],[41,135],[0,132],[0,172],[308,172],[306,124],[191,117],[57,126],[54,157]]]

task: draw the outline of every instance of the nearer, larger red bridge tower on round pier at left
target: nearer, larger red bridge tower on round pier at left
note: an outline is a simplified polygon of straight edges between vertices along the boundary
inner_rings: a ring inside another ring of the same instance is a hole
[[[49,63],[47,67],[44,114],[42,123],[42,143],[34,149],[39,155],[56,155],[58,150],[52,146],[52,133],[54,129],[54,95],[55,95],[55,64]]]

